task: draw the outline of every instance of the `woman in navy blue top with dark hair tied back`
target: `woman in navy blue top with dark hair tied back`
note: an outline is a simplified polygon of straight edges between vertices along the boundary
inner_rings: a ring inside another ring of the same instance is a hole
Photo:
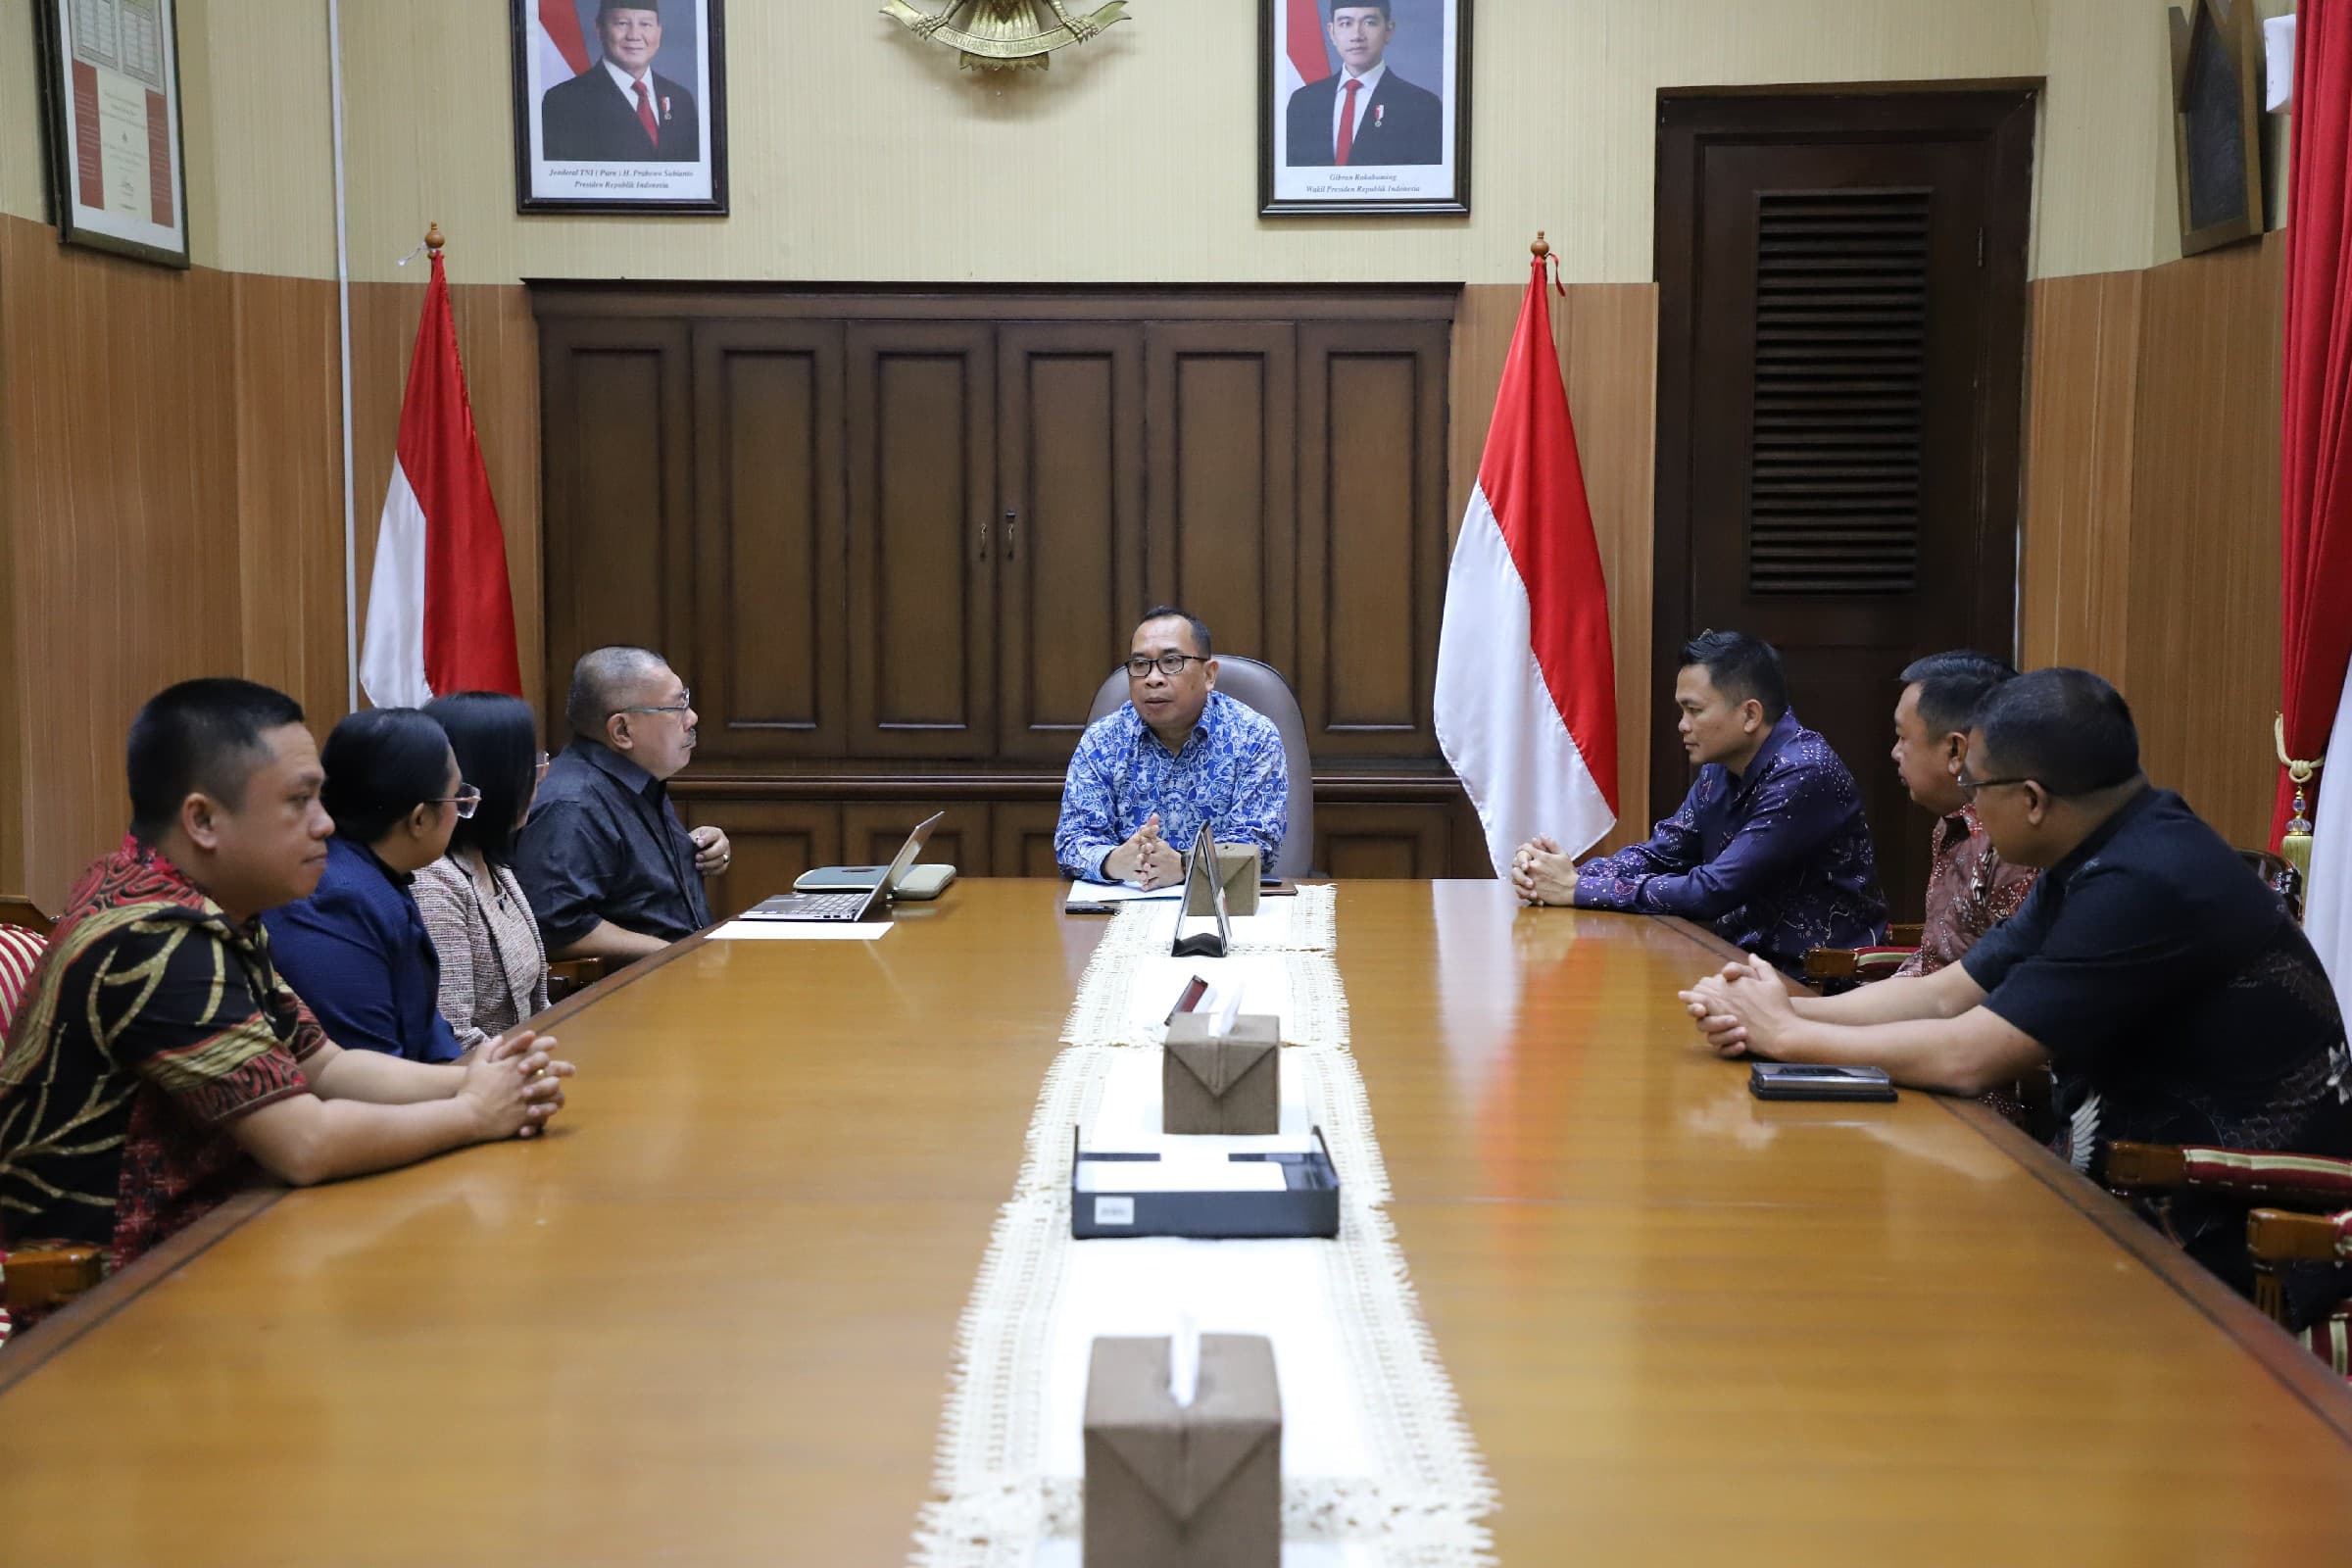
[[[440,957],[409,884],[482,792],[459,773],[442,726],[414,708],[350,715],[320,762],[334,837],[318,891],[261,917],[278,973],[334,1044],[454,1063],[466,1048],[440,1016]]]

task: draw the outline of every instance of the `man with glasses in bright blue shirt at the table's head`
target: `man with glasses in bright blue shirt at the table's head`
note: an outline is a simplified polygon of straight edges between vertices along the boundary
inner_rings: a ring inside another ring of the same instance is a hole
[[[1216,689],[1209,628],[1160,604],[1127,658],[1127,703],[1077,741],[1054,858],[1084,882],[1169,886],[1200,825],[1275,863],[1289,830],[1282,731]]]

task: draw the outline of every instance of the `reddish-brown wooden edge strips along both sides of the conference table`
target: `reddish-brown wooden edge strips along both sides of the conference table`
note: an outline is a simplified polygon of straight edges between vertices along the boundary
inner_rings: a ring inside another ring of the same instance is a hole
[[[1722,959],[1740,957],[1738,947],[1722,940],[1705,926],[1693,926],[1686,919],[1672,917],[1651,919],[1677,931],[1708,954]],[[635,985],[663,964],[694,952],[706,940],[710,940],[708,931],[680,938],[661,952],[630,964],[621,973],[607,976],[604,980],[564,997],[548,1011],[532,1018],[529,1027],[546,1032],[564,1018],[595,1006],[623,985]],[[2230,1291],[2213,1274],[2192,1262],[2187,1253],[2159,1237],[2154,1227],[2133,1215],[2114,1194],[2105,1192],[2098,1182],[2089,1180],[2072,1166],[2060,1164],[2049,1150],[2020,1133],[2004,1117],[1997,1117],[1976,1100],[1955,1100],[1950,1095],[1929,1098],[1943,1107],[1945,1114],[1976,1128],[1980,1138],[2025,1166],[2034,1180],[2058,1194],[2079,1215],[2091,1220],[2091,1225],[2096,1225],[2117,1246],[2147,1265],[2157,1279],[2190,1302],[2209,1324],[2251,1352],[2253,1359],[2260,1361],[2288,1394],[2293,1394],[2305,1408],[2312,1410],[2312,1415],[2324,1420],[2340,1439],[2345,1439],[2347,1446],[2352,1446],[2352,1387],[2347,1387],[2343,1378],[2296,1342],[2293,1335],[2263,1316],[2253,1302],[2241,1298],[2237,1291]],[[266,1213],[287,1192],[289,1187],[280,1185],[256,1185],[238,1192],[202,1220],[188,1225],[136,1258],[120,1274],[108,1276],[94,1291],[52,1312],[38,1328],[24,1333],[7,1354],[0,1354],[0,1394],[38,1373],[92,1328],[136,1302],[195,1258],[212,1251],[214,1244],[233,1234],[247,1220]]]

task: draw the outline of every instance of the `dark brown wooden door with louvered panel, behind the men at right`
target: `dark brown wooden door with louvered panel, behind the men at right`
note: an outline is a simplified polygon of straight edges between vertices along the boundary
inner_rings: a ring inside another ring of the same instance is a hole
[[[2013,644],[2030,155],[2030,89],[1661,103],[1651,811],[1689,788],[1682,639],[1764,637],[1896,919],[1931,827],[1886,757],[1898,672]]]

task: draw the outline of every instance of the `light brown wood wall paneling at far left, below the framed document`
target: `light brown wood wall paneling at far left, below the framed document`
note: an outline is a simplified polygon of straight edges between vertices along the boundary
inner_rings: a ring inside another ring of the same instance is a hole
[[[235,317],[221,273],[0,221],[0,468],[24,889],[61,907],[129,813],[139,705],[245,654]]]

